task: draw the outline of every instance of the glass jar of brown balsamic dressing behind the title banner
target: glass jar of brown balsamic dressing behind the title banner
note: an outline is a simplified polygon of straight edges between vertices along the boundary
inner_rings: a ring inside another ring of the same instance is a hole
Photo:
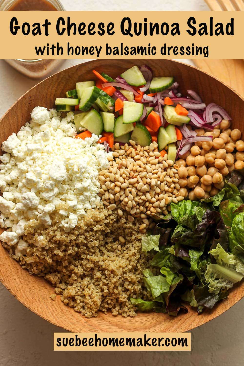
[[[0,11],[64,11],[59,0],[0,0]],[[51,75],[64,60],[5,60],[22,74],[33,79]]]

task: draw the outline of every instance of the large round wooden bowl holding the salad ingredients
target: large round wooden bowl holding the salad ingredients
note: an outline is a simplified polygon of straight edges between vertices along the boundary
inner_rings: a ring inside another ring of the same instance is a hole
[[[193,89],[203,97],[204,102],[215,102],[232,116],[232,126],[243,128],[244,100],[235,91],[194,67],[171,60],[96,60],[80,64],[58,72],[27,91],[3,116],[0,122],[0,142],[30,120],[30,112],[39,105],[47,108],[54,106],[55,97],[63,97],[65,91],[75,88],[76,81],[94,79],[92,70],[105,71],[116,77],[133,65],[148,64],[156,76],[174,76],[180,84],[180,91]],[[52,286],[44,279],[30,276],[20,265],[11,259],[0,245],[0,280],[22,304],[35,314],[73,332],[118,332],[118,331],[155,331],[185,332],[202,325],[224,313],[244,295],[243,284],[236,286],[229,297],[220,302],[213,310],[198,315],[189,309],[188,314],[170,317],[166,314],[140,313],[135,318],[114,317],[100,313],[97,318],[87,319],[65,306],[59,296],[52,301],[49,296]]]

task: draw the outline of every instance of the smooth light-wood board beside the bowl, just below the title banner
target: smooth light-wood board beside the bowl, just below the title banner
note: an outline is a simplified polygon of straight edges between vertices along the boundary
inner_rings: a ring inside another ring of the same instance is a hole
[[[216,76],[244,96],[243,60],[193,60],[196,67]]]

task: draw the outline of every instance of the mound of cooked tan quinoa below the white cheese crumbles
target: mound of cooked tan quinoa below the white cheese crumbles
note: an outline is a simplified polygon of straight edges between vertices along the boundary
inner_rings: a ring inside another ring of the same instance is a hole
[[[97,316],[98,310],[135,316],[129,298],[150,297],[142,281],[149,254],[141,251],[141,219],[131,223],[126,215],[96,208],[69,233],[57,220],[53,216],[49,228],[26,225],[23,239],[30,245],[19,258],[22,267],[45,277],[65,305],[88,318]],[[18,260],[11,247],[4,246]]]

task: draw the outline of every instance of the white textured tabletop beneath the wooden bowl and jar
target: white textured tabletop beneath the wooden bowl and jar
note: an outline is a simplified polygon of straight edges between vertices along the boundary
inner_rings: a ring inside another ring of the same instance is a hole
[[[164,0],[151,7],[139,0],[62,0],[66,10],[208,10],[203,0]],[[128,5],[128,7],[127,7]],[[68,60],[62,68],[84,60]],[[34,81],[0,60],[0,116]],[[0,366],[188,365],[243,366],[243,305],[241,300],[217,319],[194,329],[191,352],[53,352],[53,332],[60,328],[31,313],[0,285]],[[199,315],[200,316],[200,315]]]

